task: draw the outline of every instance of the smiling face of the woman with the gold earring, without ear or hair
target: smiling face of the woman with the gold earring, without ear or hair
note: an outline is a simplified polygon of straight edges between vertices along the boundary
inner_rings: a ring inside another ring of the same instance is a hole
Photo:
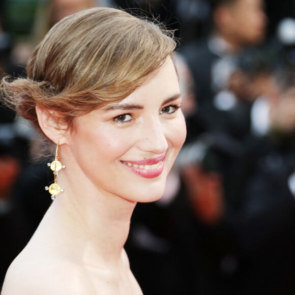
[[[77,117],[77,127],[62,147],[67,170],[88,189],[104,194],[141,202],[160,198],[186,136],[180,105],[169,57],[121,102]]]

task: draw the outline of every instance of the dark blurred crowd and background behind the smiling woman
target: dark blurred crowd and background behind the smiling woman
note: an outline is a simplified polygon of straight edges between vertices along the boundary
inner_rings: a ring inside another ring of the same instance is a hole
[[[55,22],[95,6],[156,17],[179,40],[187,140],[126,243],[143,293],[295,294],[295,1],[1,0],[0,76],[25,75]],[[0,289],[51,202],[42,147],[1,105]]]

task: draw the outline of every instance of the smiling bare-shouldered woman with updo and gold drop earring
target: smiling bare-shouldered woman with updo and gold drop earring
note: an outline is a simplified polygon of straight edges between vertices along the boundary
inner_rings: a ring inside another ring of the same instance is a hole
[[[141,294],[124,244],[136,202],[161,197],[185,140],[175,42],[111,8],[58,22],[2,96],[56,144],[50,208],[3,295]],[[152,282],[151,282],[152,283]]]

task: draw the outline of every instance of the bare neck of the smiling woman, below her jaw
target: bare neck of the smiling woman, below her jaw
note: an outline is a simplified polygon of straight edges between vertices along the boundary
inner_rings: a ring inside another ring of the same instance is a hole
[[[85,265],[117,265],[135,203],[74,185],[78,182],[66,183],[65,192],[56,196],[42,222],[50,228],[59,251]]]

